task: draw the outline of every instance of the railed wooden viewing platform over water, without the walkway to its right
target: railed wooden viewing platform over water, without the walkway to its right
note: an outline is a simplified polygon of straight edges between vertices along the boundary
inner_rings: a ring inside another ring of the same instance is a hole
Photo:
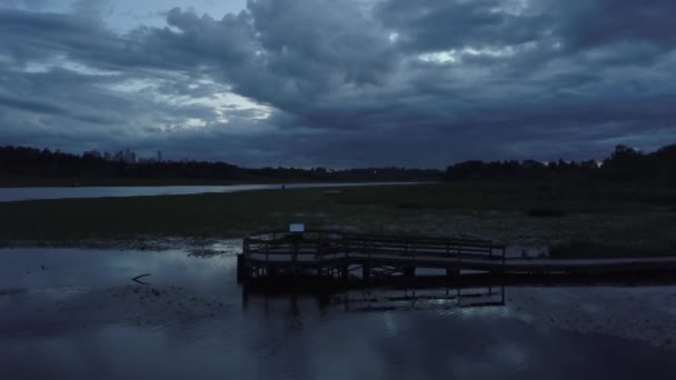
[[[330,230],[269,231],[243,239],[238,280],[317,279],[365,283],[414,278],[421,270],[446,276],[480,268],[501,272],[505,246],[479,239],[367,234]]]

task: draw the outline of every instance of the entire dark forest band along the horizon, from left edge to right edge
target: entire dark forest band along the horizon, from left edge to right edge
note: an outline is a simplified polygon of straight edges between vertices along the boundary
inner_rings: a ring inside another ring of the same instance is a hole
[[[436,169],[326,168],[247,169],[226,162],[106,160],[92,154],[76,156],[48,149],[0,148],[0,179],[215,180],[215,181],[457,181],[599,179],[676,186],[676,144],[652,153],[617,146],[603,162],[588,161],[466,161]]]

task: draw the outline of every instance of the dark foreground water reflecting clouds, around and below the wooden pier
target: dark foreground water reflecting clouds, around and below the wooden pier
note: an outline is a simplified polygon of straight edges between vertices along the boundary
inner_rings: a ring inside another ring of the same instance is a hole
[[[676,287],[270,298],[236,283],[240,243],[0,250],[0,378],[676,378]]]

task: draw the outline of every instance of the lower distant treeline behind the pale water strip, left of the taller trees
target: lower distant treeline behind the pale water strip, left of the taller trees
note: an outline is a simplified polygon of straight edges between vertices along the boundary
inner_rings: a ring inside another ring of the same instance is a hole
[[[213,181],[438,181],[440,170],[404,168],[248,169],[226,162],[106,160],[92,154],[70,154],[27,147],[0,148],[0,178],[4,179],[126,179],[126,180],[213,180]]]

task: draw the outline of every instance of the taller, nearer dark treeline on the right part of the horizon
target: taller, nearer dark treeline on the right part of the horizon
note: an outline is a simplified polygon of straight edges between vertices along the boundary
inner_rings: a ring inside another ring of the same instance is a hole
[[[676,186],[676,144],[652,153],[617,146],[603,162],[587,161],[466,161],[449,166],[445,179],[547,180],[604,179]]]

